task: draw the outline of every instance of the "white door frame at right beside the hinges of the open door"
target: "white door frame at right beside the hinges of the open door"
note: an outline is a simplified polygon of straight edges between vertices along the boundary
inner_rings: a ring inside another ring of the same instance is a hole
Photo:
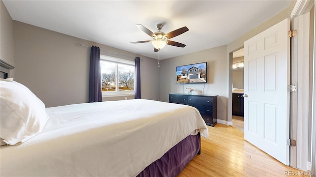
[[[309,61],[310,61],[310,10],[314,1],[297,0],[291,13],[291,29],[298,34],[291,38],[291,84],[298,89],[291,92],[290,139],[296,146],[290,147],[290,166],[303,171],[311,170],[308,162],[309,141]],[[308,35],[304,35],[308,34]]]

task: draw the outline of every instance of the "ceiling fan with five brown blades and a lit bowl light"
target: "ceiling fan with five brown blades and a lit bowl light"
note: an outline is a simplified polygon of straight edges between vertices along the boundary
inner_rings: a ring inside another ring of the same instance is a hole
[[[186,46],[185,44],[175,42],[175,41],[170,41],[169,39],[188,31],[189,29],[187,27],[182,27],[182,28],[173,30],[169,33],[164,33],[162,31],[160,31],[162,29],[161,24],[157,25],[157,29],[158,29],[157,32],[152,32],[151,30],[147,29],[146,27],[144,27],[141,24],[137,24],[136,26],[139,29],[141,29],[142,31],[144,31],[146,34],[150,35],[153,38],[153,40],[130,42],[132,44],[151,42],[153,44],[153,46],[155,47],[155,49],[154,49],[155,52],[158,52],[166,44],[176,46],[176,47],[185,47]]]

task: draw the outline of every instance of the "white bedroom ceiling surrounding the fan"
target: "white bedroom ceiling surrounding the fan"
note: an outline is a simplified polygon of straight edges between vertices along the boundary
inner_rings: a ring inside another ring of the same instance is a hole
[[[160,59],[222,46],[268,20],[290,0],[3,0],[13,20],[50,29],[158,59],[151,43],[129,42],[152,38],[135,25],[167,33],[189,31],[171,40]],[[84,44],[83,44],[84,45]],[[102,50],[102,49],[101,49]]]

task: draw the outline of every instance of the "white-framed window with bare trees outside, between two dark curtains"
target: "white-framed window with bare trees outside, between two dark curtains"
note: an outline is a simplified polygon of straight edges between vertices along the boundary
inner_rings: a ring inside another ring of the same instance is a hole
[[[134,61],[101,55],[102,95],[134,95]]]

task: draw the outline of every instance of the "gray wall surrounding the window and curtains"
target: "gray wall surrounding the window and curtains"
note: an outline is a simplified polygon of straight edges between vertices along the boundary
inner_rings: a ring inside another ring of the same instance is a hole
[[[107,52],[112,52],[121,54],[119,58],[129,60],[140,57],[141,97],[159,100],[159,82],[156,77],[159,70],[156,59],[18,21],[13,21],[13,31],[14,79],[31,89],[46,107],[88,101],[90,48],[78,46],[78,43],[98,46],[104,55],[111,55]],[[123,98],[112,97],[108,100]]]

